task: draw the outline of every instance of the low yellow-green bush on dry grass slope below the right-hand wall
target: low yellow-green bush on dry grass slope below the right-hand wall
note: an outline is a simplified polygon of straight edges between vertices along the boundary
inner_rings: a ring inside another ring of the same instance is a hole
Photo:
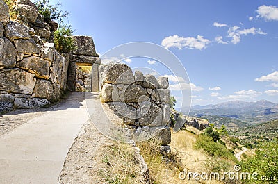
[[[206,135],[199,135],[197,137],[195,147],[198,149],[204,149],[206,153],[213,157],[222,157],[234,160],[235,157],[229,149],[227,149],[224,145],[214,142],[211,137]]]

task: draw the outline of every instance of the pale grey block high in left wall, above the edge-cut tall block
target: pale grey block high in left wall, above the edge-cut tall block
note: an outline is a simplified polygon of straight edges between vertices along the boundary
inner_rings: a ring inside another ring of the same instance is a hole
[[[29,34],[29,29],[24,24],[19,24],[18,22],[10,21],[5,29],[5,35],[9,40],[17,39],[31,39]]]

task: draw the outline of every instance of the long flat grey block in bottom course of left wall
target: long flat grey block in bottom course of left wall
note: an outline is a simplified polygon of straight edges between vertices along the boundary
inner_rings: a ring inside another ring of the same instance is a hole
[[[48,106],[50,102],[47,99],[26,99],[26,98],[15,98],[15,108],[42,108]]]

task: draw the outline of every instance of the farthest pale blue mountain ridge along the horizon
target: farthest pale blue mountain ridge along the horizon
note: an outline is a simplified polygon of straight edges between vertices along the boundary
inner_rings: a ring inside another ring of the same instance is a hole
[[[201,109],[215,109],[215,108],[278,108],[278,103],[273,103],[267,100],[260,100],[256,102],[247,102],[247,101],[227,101],[224,103],[218,103],[215,105],[206,105],[206,106],[191,106],[192,110],[201,110]]]

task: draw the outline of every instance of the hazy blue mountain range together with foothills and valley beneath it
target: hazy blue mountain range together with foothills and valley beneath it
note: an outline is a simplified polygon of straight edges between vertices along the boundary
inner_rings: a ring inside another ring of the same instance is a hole
[[[243,127],[247,124],[260,124],[278,119],[278,103],[266,100],[227,101],[215,105],[192,106],[190,115],[208,119],[210,123],[217,125],[225,124],[236,128],[236,126]],[[229,119],[238,121],[229,121]]]

